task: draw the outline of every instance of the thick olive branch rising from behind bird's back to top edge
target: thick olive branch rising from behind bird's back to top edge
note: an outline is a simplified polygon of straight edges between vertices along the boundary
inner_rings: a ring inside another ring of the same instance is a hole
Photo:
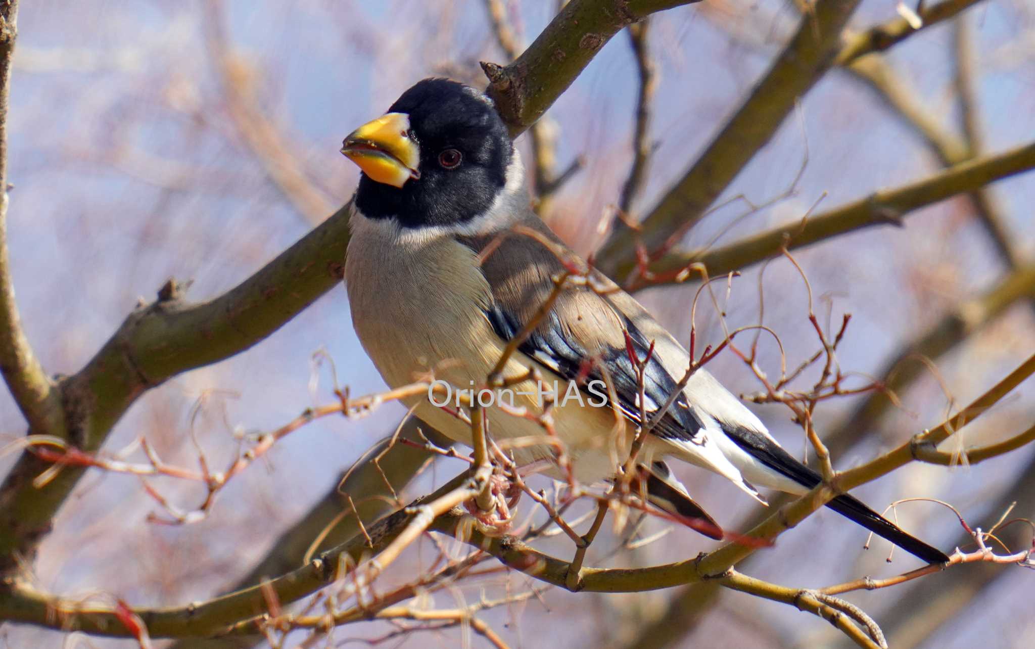
[[[833,62],[841,29],[859,0],[819,0],[772,67],[756,84],[704,153],[641,224],[639,239],[620,220],[597,253],[599,268],[612,276],[634,263],[638,241],[648,250],[671,245],[698,223],[715,199],[773,137],[795,102]],[[709,269],[711,270],[711,269]]]

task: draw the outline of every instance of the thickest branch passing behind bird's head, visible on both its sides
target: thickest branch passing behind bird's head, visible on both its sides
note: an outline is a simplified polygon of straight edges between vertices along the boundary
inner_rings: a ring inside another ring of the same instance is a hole
[[[686,1],[572,0],[565,5],[518,61],[498,68],[513,82],[497,96],[504,117],[519,120],[511,121],[511,131],[522,132],[541,115],[615,32],[679,4]],[[554,58],[558,53],[561,60]],[[157,301],[130,314],[85,367],[51,390],[48,399],[60,401],[67,423],[48,432],[83,451],[96,450],[146,390],[248,349],[337,286],[348,240],[346,206],[214,300],[185,303],[171,282]],[[17,567],[19,560],[32,559],[51,519],[84,471],[64,467],[45,488],[35,489],[33,478],[50,466],[25,452],[0,484],[0,574]]]

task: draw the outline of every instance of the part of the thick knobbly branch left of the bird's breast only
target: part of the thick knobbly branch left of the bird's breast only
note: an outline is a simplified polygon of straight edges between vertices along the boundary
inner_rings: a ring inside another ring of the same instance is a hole
[[[95,451],[146,390],[181,372],[238,354],[338,286],[349,241],[348,205],[264,268],[211,301],[188,303],[170,281],[158,299],[131,313],[99,352],[59,388],[67,413],[60,434]],[[25,452],[0,484],[0,573],[31,559],[36,541],[83,474],[65,467],[41,489],[50,463]]]

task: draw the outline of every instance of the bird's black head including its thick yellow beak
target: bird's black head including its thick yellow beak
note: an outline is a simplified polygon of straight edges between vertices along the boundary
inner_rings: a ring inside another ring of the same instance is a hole
[[[363,169],[356,207],[365,216],[394,216],[403,227],[421,228],[484,213],[506,185],[513,145],[481,92],[425,79],[387,115],[349,136],[342,152]]]

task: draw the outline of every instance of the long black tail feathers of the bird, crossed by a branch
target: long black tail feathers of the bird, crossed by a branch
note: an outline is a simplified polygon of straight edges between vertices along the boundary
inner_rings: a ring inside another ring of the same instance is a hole
[[[823,481],[823,477],[819,473],[795,460],[791,453],[764,435],[741,427],[727,429],[723,426],[722,430],[745,452],[795,482],[812,489]],[[854,496],[844,494],[828,502],[827,506],[927,563],[945,563],[949,560],[944,552],[907,534],[897,525],[877,513]]]

